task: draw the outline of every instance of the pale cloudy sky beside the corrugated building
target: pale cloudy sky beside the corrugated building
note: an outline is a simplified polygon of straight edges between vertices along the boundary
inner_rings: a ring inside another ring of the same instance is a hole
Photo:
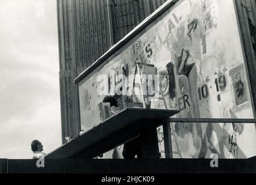
[[[0,158],[61,145],[55,0],[0,0]]]

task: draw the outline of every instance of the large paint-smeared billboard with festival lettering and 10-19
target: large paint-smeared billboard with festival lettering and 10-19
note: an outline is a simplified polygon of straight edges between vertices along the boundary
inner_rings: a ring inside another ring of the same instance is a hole
[[[151,97],[152,109],[178,109],[180,118],[254,118],[233,0],[178,1],[79,82],[83,130],[100,123],[98,105],[105,94],[98,94],[98,77],[111,78],[111,71],[134,75],[137,62],[153,65],[159,75],[161,96]],[[182,158],[209,158],[212,153],[220,158],[256,156],[253,123],[170,123],[170,127],[175,132],[173,150],[178,146]],[[164,153],[162,128],[158,131]]]

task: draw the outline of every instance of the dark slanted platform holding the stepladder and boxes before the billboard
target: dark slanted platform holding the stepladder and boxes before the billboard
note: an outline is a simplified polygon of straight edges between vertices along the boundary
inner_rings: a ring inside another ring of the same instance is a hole
[[[127,108],[48,154],[46,158],[96,157],[100,153],[111,150],[112,147],[119,146],[134,135],[138,135],[140,125],[145,121],[150,121],[147,122],[148,127],[156,128],[162,124],[162,119],[167,119],[177,113],[177,110]]]

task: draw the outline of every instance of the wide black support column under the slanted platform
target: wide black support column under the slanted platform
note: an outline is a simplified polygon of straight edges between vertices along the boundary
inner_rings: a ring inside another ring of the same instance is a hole
[[[159,158],[158,132],[156,127],[147,125],[140,128],[141,158]]]

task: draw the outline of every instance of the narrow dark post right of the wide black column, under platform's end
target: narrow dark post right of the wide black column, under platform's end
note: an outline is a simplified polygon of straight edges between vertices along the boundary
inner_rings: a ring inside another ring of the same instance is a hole
[[[163,120],[163,138],[165,158],[173,158],[173,145],[171,143],[171,128],[168,119]]]

